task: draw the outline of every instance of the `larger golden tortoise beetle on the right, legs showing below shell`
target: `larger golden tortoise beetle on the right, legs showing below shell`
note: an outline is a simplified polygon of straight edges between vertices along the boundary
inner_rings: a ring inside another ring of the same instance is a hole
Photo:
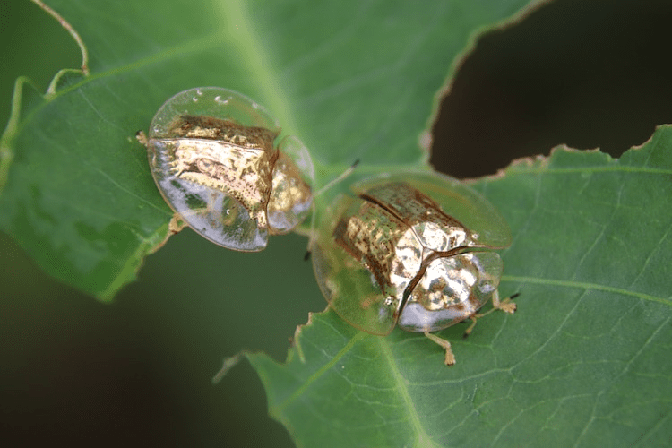
[[[483,196],[435,173],[368,179],[353,192],[324,216],[312,255],[324,297],[346,322],[378,335],[395,325],[424,332],[452,365],[450,343],[430,332],[475,323],[491,297],[494,308],[515,311],[499,300],[503,265],[494,252],[511,233]]]

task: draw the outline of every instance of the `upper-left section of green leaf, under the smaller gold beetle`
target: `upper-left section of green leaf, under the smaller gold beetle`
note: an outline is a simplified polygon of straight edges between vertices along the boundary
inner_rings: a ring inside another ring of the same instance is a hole
[[[0,228],[49,274],[109,300],[168,235],[134,134],[170,96],[218,85],[256,99],[306,142],[318,188],[354,159],[361,173],[426,167],[452,61],[536,2],[47,3],[82,39],[86,70],[58,73],[30,108],[18,83]]]

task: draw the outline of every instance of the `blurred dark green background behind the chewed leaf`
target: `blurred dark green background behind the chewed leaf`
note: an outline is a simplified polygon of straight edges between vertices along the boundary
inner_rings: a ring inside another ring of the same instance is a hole
[[[641,144],[672,123],[670,22],[668,1],[559,0],[487,34],[444,100],[432,163],[478,177],[560,143],[615,156]],[[17,76],[44,91],[57,70],[81,62],[65,30],[28,0],[0,4],[0,56],[2,123]],[[267,417],[250,366],[217,386],[210,378],[238,349],[284,360],[297,324],[323,310],[310,263],[286,263],[305,250],[305,238],[288,236],[237,254],[185,230],[102,305],[48,278],[0,234],[3,439],[293,446]],[[246,275],[226,275],[234,266]],[[314,300],[292,300],[297,288]],[[239,300],[220,300],[224,289]]]

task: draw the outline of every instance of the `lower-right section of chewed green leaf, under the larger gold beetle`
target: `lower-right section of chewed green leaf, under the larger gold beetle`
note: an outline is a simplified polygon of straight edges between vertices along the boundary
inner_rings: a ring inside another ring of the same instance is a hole
[[[299,446],[663,446],[672,438],[672,126],[611,159],[557,148],[475,186],[513,245],[518,312],[440,334],[314,314],[286,365],[248,355]],[[303,358],[303,360],[302,360]]]

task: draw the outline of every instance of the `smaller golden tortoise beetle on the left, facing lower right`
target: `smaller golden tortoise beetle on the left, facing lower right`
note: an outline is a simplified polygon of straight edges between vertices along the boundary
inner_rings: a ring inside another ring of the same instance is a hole
[[[252,99],[201,87],[168,99],[149,138],[140,132],[138,140],[178,220],[215,244],[251,252],[305,220],[313,200],[310,154],[296,137],[276,142],[279,134]]]

